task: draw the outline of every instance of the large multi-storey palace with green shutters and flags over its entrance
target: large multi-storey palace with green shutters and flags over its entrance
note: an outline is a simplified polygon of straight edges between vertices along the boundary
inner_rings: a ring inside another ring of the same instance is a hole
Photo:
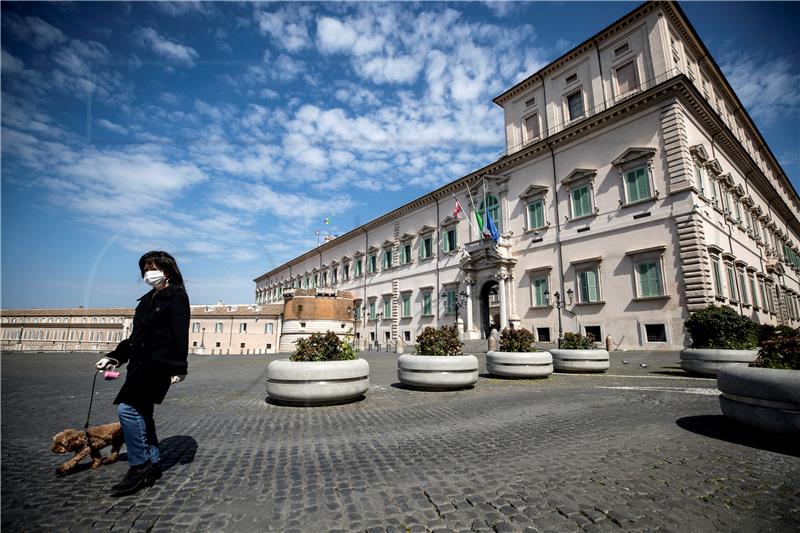
[[[676,349],[710,304],[800,324],[800,198],[677,4],[638,7],[494,102],[505,155],[263,274],[256,303],[349,291],[380,343],[458,318],[469,339],[514,325]]]

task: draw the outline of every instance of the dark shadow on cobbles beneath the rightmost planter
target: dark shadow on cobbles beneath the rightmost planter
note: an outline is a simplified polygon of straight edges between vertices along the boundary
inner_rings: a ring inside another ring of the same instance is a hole
[[[797,441],[792,436],[783,437],[758,431],[738,424],[723,415],[699,415],[679,418],[678,427],[704,437],[724,440],[741,446],[800,457]]]

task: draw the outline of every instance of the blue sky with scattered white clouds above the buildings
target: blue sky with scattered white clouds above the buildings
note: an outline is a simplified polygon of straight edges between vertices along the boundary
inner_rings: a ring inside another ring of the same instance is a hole
[[[491,99],[637,5],[4,2],[0,304],[132,306],[151,249],[250,303],[496,159]],[[682,7],[800,189],[800,4]]]

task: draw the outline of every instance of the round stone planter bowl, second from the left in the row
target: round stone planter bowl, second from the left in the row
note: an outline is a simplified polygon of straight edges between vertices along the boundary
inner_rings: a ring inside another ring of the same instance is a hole
[[[397,358],[397,378],[417,389],[463,389],[478,381],[478,358],[404,354]]]

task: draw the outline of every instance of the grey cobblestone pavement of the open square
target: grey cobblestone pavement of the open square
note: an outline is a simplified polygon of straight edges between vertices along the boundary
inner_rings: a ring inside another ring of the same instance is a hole
[[[164,477],[117,499],[124,461],[58,478],[50,452],[97,358],[2,356],[4,532],[800,530],[799,443],[728,422],[676,353],[439,393],[370,353],[366,399],[319,408],[265,402],[274,356],[193,356],[156,408]],[[93,424],[120,384],[98,379]]]

